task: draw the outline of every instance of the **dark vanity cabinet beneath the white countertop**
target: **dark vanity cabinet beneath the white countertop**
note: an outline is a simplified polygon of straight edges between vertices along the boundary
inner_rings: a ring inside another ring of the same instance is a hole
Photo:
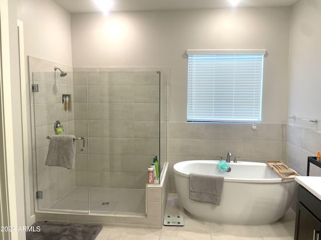
[[[321,240],[321,200],[298,186],[294,240]]]

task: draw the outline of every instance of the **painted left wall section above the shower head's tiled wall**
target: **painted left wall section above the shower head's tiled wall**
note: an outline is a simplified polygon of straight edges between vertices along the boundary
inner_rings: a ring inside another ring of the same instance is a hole
[[[18,0],[25,54],[72,66],[70,13],[52,0]]]

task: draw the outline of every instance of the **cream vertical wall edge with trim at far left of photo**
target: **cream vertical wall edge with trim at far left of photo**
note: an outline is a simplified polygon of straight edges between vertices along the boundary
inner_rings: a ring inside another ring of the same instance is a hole
[[[3,137],[7,177],[9,225],[24,226],[24,174],[22,116],[17,31],[17,1],[0,0],[1,15],[1,97],[3,99]],[[3,194],[3,192],[2,192]],[[12,231],[10,239],[25,239],[25,232]]]

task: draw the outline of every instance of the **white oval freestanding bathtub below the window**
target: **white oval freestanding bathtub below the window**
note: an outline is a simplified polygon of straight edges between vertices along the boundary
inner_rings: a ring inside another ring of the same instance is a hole
[[[183,207],[192,215],[222,223],[259,225],[278,220],[288,210],[294,180],[282,180],[261,162],[230,162],[230,172],[220,171],[218,162],[191,160],[174,165],[177,194]],[[190,199],[191,172],[224,176],[219,206]]]

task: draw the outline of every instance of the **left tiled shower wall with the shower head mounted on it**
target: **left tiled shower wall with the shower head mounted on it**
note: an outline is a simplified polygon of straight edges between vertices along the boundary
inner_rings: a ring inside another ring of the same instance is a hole
[[[36,68],[38,60],[40,59],[29,58],[29,63]],[[39,209],[48,208],[75,186],[75,170],[45,165],[50,141],[46,136],[55,134],[54,122],[61,121],[65,134],[74,134],[75,128],[73,111],[63,113],[62,110],[62,94],[73,95],[73,75],[72,73],[68,73],[65,77],[60,77],[59,73],[55,75],[54,63],[47,62],[47,64],[46,67],[51,72],[36,72],[37,69],[35,69],[31,73],[33,83],[39,85],[39,92],[30,92],[32,149],[34,162],[36,162],[34,171],[37,172],[35,190],[43,191],[43,199],[38,200]],[[46,67],[43,66],[42,69]]]

